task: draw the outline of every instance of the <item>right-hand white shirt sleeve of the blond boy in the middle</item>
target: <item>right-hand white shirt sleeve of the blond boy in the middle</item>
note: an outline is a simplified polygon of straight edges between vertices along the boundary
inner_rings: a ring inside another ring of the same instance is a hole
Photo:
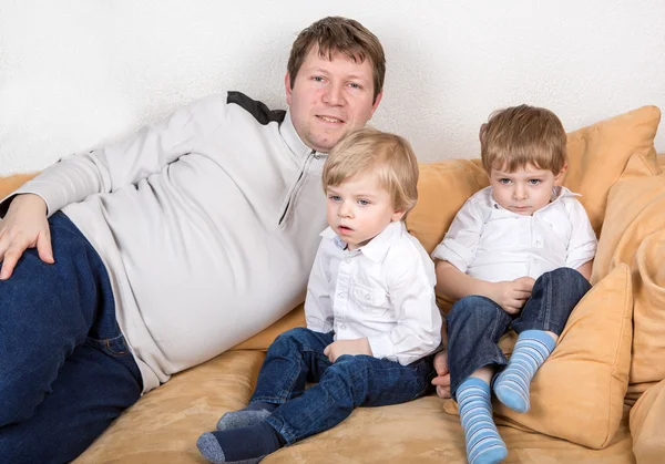
[[[434,266],[424,250],[389,257],[385,266],[388,296],[398,322],[390,332],[370,336],[368,341],[375,358],[407,365],[432,353],[441,342]]]

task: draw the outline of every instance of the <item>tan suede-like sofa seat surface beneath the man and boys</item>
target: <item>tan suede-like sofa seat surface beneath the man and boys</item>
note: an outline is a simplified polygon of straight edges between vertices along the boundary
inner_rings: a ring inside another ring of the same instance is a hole
[[[75,464],[205,463],[196,439],[219,416],[247,404],[264,352],[233,350],[144,395]],[[360,408],[340,425],[287,446],[263,461],[297,463],[463,463],[459,417],[434,394],[382,408]],[[500,422],[501,423],[501,422]],[[618,433],[604,450],[500,425],[507,463],[634,463],[626,406]]]

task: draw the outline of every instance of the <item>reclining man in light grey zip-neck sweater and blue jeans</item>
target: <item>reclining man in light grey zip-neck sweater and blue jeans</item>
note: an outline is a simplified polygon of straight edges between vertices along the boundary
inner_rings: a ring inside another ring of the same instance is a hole
[[[74,458],[142,392],[303,299],[325,154],[383,76],[378,39],[326,18],[294,42],[287,112],[211,96],[0,204],[2,461]]]

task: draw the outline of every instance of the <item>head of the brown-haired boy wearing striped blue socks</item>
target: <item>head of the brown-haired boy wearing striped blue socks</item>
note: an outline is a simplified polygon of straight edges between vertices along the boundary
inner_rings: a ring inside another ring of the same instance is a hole
[[[492,194],[505,209],[532,215],[563,183],[566,135],[549,110],[521,105],[492,113],[480,128],[480,145]]]

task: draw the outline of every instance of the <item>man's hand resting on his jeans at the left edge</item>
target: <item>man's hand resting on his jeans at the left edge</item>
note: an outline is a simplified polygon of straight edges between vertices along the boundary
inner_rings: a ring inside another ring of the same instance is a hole
[[[33,194],[17,196],[0,221],[0,280],[9,279],[27,248],[35,248],[42,261],[53,264],[47,204]]]

